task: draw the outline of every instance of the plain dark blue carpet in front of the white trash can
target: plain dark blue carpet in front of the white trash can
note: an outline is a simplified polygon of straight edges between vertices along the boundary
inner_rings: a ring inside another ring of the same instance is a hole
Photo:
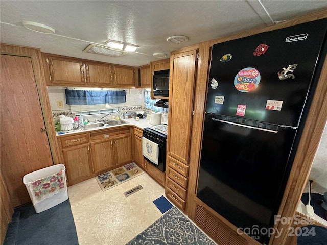
[[[78,245],[69,199],[36,213],[32,203],[15,208],[4,245]]]

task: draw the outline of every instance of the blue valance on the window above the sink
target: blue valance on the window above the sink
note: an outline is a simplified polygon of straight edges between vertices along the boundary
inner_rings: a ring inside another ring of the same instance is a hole
[[[126,91],[95,91],[65,89],[66,104],[68,105],[101,105],[119,104],[126,102]]]

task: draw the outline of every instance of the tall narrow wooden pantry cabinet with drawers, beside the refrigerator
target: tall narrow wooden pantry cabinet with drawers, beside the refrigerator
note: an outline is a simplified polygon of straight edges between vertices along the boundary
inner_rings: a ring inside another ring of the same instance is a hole
[[[166,196],[186,208],[197,49],[170,58]]]

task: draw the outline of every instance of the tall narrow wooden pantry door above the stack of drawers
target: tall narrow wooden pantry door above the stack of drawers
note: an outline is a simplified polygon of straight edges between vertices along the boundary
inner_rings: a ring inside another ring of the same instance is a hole
[[[171,56],[168,154],[188,164],[197,50]]]

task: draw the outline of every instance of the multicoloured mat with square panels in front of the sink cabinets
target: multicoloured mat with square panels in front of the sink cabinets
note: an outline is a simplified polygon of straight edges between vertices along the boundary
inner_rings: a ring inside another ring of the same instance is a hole
[[[144,171],[134,162],[125,166],[115,168],[107,173],[98,175],[96,180],[102,191],[109,190],[112,187],[118,186],[136,176],[142,175]]]

